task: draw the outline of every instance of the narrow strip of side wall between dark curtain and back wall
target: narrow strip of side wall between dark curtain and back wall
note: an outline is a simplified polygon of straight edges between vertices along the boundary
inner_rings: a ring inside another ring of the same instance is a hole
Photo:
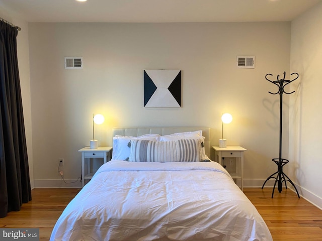
[[[29,41],[28,41],[28,23],[19,18],[14,11],[1,6],[0,16],[21,28],[17,36],[17,55],[19,66],[19,77],[21,85],[21,95],[23,102],[25,132],[27,142],[27,152],[29,161],[30,184],[33,188],[33,155],[32,155],[32,130],[31,130],[31,99],[30,99],[30,72],[29,72]]]

